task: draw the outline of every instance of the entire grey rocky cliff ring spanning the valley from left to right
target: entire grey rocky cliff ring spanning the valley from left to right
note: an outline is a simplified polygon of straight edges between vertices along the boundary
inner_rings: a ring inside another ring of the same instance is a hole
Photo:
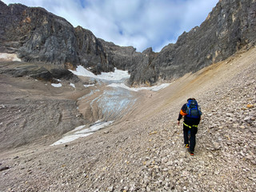
[[[116,46],[90,30],[74,28],[42,8],[0,2],[0,51],[18,53],[25,62],[50,62],[62,68],[82,65],[94,74],[114,67],[129,70],[130,85],[152,85],[222,61],[256,40],[256,2],[222,0],[201,26],[184,32],[159,53]]]

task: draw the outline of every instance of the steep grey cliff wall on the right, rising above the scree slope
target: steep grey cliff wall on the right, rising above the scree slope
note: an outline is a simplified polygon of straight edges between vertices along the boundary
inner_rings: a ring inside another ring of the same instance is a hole
[[[176,44],[164,47],[150,63],[141,62],[130,82],[171,79],[222,61],[256,40],[256,2],[222,0],[200,27],[184,32]],[[144,70],[139,70],[144,69]]]

